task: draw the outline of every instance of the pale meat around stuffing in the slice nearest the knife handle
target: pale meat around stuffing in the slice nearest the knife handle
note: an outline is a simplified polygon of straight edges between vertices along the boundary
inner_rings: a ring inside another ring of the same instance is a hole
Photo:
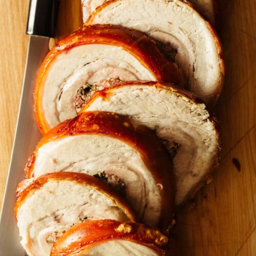
[[[117,78],[156,80],[132,54],[118,46],[90,44],[59,54],[44,83],[42,109],[50,127],[76,116],[74,99],[86,83]]]

